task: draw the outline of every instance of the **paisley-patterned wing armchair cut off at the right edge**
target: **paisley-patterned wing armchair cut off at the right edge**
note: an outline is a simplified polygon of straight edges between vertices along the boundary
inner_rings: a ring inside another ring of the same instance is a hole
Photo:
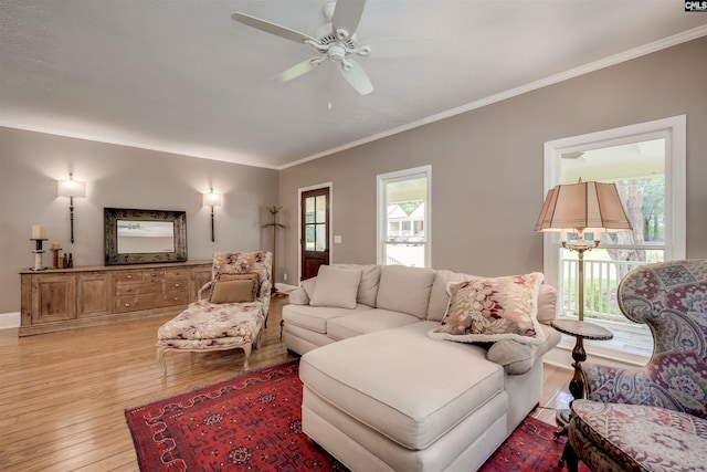
[[[655,343],[641,369],[582,365],[563,459],[592,471],[707,470],[707,260],[631,271],[619,306]]]

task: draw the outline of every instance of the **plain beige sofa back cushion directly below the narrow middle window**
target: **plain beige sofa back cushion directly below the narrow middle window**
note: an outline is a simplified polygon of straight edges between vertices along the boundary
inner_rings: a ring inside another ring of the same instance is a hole
[[[426,268],[386,265],[380,274],[376,306],[424,319],[428,315],[434,273],[433,269]]]

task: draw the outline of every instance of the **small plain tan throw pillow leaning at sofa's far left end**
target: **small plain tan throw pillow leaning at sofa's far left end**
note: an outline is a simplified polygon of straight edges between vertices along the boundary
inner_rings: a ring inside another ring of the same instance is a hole
[[[321,265],[317,273],[317,283],[309,305],[356,308],[356,296],[360,282],[360,269],[348,270]]]

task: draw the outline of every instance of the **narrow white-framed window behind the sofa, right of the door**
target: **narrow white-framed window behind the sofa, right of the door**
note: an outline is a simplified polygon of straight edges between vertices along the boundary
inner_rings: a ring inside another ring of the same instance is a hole
[[[429,268],[430,166],[378,176],[378,263]]]

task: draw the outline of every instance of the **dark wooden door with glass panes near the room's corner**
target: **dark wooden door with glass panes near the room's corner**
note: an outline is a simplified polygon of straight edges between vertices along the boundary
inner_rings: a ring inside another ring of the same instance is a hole
[[[329,263],[329,188],[302,193],[302,280],[317,275],[319,265]]]

